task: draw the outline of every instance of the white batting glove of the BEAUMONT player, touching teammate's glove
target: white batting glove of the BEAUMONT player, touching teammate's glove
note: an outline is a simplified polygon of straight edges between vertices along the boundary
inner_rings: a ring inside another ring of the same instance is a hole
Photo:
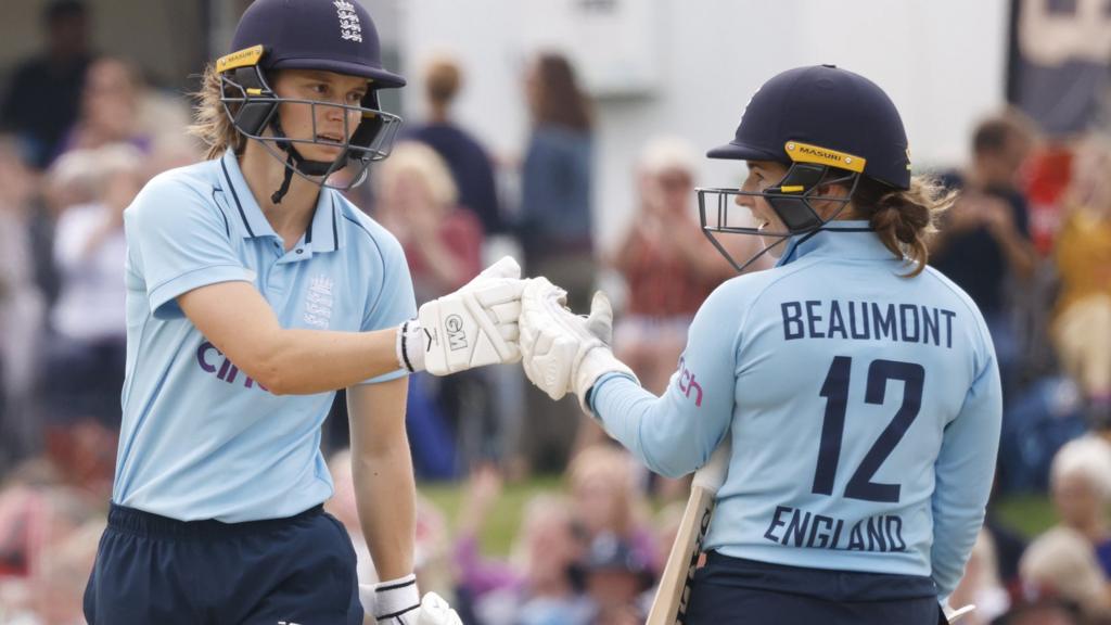
[[[610,373],[634,380],[637,376],[610,348],[613,310],[605,294],[594,292],[589,317],[568,310],[565,301],[567,291],[548,278],[533,278],[526,285],[520,320],[524,374],[552,399],[574,393],[590,414],[587,391],[598,378]]]

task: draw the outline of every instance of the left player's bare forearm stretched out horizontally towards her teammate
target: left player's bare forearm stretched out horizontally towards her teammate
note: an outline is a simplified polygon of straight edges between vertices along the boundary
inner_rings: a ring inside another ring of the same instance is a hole
[[[279,329],[263,339],[251,363],[237,365],[276,395],[310,395],[397,370],[396,344],[396,328]]]

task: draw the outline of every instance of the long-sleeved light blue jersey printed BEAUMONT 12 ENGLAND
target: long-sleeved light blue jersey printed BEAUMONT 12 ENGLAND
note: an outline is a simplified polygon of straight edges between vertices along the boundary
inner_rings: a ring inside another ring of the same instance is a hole
[[[932,268],[902,278],[863,221],[793,240],[699,310],[668,390],[592,393],[605,429],[680,476],[731,431],[707,548],[932,576],[947,597],[983,519],[1002,400],[975,305]]]

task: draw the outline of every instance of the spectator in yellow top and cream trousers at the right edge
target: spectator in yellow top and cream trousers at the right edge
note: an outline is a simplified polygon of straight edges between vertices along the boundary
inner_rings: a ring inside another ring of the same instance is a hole
[[[1082,142],[1058,236],[1061,291],[1051,334],[1064,369],[1083,389],[1089,418],[1111,427],[1111,146]]]

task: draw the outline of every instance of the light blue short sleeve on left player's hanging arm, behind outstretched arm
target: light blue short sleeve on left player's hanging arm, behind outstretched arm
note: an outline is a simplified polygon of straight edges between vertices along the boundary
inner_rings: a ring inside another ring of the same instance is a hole
[[[401,244],[381,227],[371,231],[374,234],[380,272],[376,288],[370,289],[360,328],[362,331],[392,328],[417,316],[412,277],[409,274],[409,265],[406,261]],[[388,381],[403,375],[406,375],[406,370],[399,368],[396,371],[366,380],[363,384]]]

